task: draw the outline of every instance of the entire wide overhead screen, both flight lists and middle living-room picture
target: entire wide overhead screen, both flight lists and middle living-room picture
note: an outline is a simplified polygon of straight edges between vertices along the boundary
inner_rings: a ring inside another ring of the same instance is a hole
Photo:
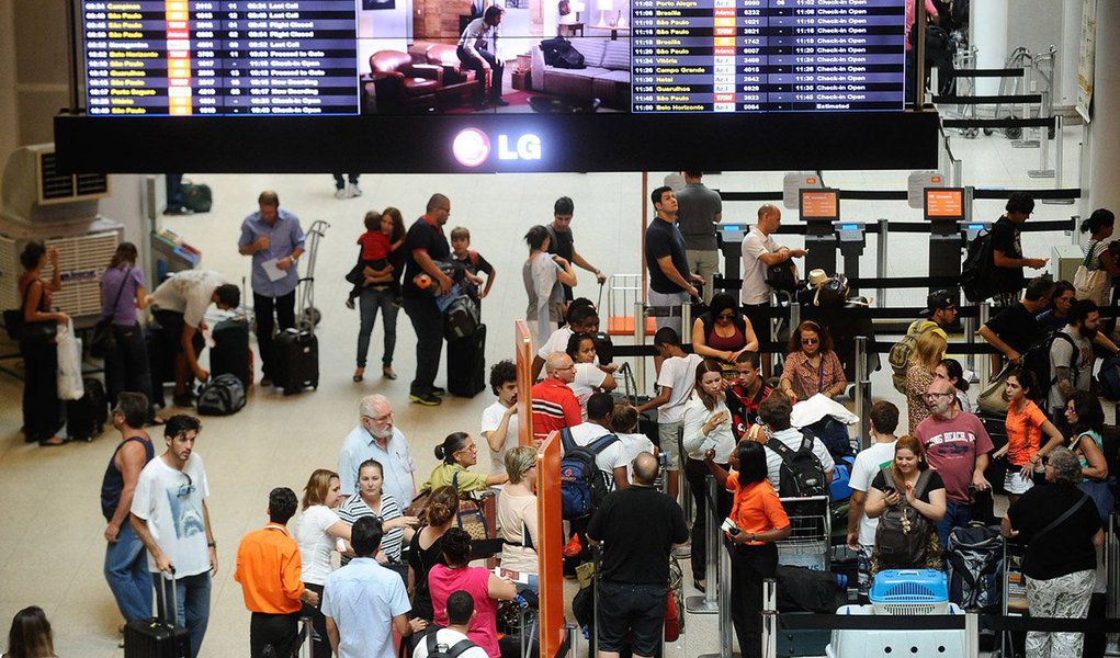
[[[82,0],[86,113],[902,111],[905,3]]]

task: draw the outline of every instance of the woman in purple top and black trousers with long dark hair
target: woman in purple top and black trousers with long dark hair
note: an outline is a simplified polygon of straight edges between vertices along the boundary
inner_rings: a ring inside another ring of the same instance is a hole
[[[105,352],[105,392],[110,405],[116,404],[122,391],[151,397],[148,346],[137,320],[137,309],[148,307],[148,294],[137,256],[136,245],[122,242],[101,275],[101,319],[112,321],[113,335]],[[148,415],[155,417],[151,412]]]

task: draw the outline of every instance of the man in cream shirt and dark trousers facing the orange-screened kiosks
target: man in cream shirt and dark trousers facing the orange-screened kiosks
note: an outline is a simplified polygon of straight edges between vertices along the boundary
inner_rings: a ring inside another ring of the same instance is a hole
[[[772,235],[781,226],[782,210],[773,204],[766,204],[758,208],[758,223],[750,227],[743,239],[743,290],[739,293],[739,301],[743,302],[743,314],[750,320],[755,332],[764,336],[769,336],[768,329],[763,331],[763,328],[769,327],[769,318],[765,314],[769,308],[766,269],[809,253],[805,250],[791,250],[777,244]],[[793,272],[796,278],[796,265]],[[767,377],[771,374],[769,352],[763,354],[763,373]]]

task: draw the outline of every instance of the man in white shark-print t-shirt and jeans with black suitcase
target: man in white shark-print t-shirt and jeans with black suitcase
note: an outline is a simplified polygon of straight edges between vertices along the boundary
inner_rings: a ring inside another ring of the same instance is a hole
[[[157,592],[164,579],[175,582],[184,611],[176,623],[190,633],[192,657],[198,656],[206,636],[211,575],[217,575],[217,544],[206,508],[209,485],[203,459],[194,452],[199,430],[196,417],[167,419],[167,451],[140,471],[130,509],[132,529],[148,549],[148,571]],[[171,619],[158,593],[156,604],[161,619]]]

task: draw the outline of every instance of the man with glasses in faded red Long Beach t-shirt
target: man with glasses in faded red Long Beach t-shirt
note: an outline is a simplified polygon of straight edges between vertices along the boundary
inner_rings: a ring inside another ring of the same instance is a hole
[[[983,471],[992,444],[980,419],[961,411],[956,389],[948,380],[934,379],[926,389],[925,403],[931,415],[914,435],[925,448],[930,467],[945,482],[945,516],[937,523],[937,539],[944,548],[949,532],[972,520],[976,492],[991,489]]]

